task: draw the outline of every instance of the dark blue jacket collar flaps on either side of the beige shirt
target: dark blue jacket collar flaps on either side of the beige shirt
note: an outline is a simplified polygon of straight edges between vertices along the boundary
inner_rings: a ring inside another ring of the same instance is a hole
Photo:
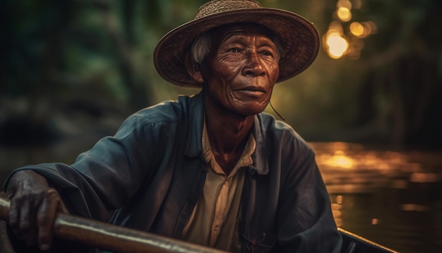
[[[186,102],[186,116],[189,122],[189,135],[186,141],[186,151],[184,155],[194,158],[202,155],[202,134],[204,120],[204,101],[203,92],[191,96]],[[268,161],[265,152],[265,127],[261,114],[255,116],[255,124],[252,127],[252,133],[255,137],[256,148],[252,154],[253,166],[250,167],[251,173],[257,172],[258,175],[268,174]]]

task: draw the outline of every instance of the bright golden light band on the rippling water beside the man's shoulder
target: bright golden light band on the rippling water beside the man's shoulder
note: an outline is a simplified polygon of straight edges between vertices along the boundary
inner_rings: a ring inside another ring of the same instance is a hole
[[[367,192],[378,187],[407,189],[410,184],[442,181],[442,173],[422,163],[438,163],[441,154],[414,159],[421,153],[379,151],[357,143],[310,143],[329,192]]]

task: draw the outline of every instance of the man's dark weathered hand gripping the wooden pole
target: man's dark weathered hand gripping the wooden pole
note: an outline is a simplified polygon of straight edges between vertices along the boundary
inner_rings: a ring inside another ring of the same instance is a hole
[[[6,194],[11,200],[8,222],[14,235],[28,246],[50,249],[56,213],[68,213],[58,192],[37,172],[20,170],[11,176]]]

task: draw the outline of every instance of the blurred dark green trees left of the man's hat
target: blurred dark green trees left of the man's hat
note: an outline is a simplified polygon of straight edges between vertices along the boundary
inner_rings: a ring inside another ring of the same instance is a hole
[[[78,119],[78,131],[88,131],[84,117],[96,129],[98,120],[120,115],[100,126],[112,133],[121,118],[161,100],[161,90],[170,88],[161,85],[153,70],[153,48],[165,31],[190,20],[188,8],[193,11],[201,1],[0,4],[4,144],[45,143],[57,131],[64,134],[68,129],[59,114],[69,117],[70,126]]]

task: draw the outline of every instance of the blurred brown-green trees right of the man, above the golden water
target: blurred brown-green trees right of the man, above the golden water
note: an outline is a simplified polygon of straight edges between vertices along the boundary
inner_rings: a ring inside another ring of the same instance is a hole
[[[323,35],[333,22],[350,43],[347,55],[321,51],[301,75],[275,86],[273,104],[309,141],[354,141],[389,146],[442,147],[441,2],[284,1]],[[350,4],[349,20],[338,6]],[[357,37],[353,22],[372,23]],[[325,48],[324,48],[325,49]],[[271,110],[269,110],[271,111]]]

